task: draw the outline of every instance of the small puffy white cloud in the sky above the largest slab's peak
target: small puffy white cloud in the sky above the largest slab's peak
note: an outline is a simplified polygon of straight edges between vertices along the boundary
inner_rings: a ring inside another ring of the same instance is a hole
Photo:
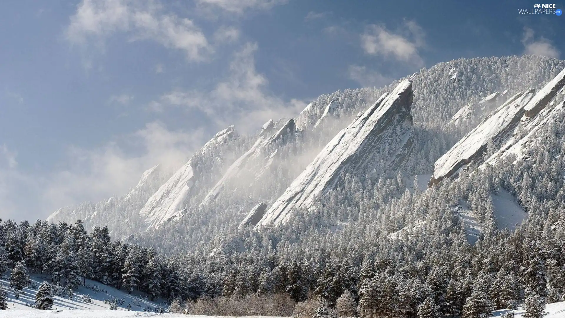
[[[423,65],[418,49],[424,45],[424,32],[415,22],[405,22],[398,32],[383,25],[368,25],[361,35],[361,46],[365,53],[391,57],[414,65]]]

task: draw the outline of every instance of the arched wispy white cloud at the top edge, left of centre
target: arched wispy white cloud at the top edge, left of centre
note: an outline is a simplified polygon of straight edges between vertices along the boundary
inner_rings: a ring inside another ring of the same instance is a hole
[[[132,41],[151,40],[183,50],[189,61],[205,59],[212,51],[204,33],[190,19],[163,12],[151,0],[82,0],[66,29],[67,40],[102,46],[107,36],[126,32]]]

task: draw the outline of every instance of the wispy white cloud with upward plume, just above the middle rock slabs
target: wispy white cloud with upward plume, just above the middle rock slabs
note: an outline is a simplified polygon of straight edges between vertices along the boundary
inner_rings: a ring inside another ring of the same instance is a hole
[[[268,92],[267,78],[255,69],[257,44],[247,43],[234,54],[229,74],[208,92],[175,89],[149,106],[156,111],[169,107],[198,110],[216,126],[236,124],[240,131],[254,131],[270,118],[293,117],[306,103],[285,102]]]

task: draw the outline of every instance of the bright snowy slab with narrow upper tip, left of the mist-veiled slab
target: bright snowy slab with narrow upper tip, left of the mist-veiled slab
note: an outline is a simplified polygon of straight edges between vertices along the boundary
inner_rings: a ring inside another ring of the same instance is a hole
[[[231,139],[235,134],[233,126],[216,134],[197,154],[205,154],[213,147],[218,147]],[[194,156],[197,156],[194,154]],[[190,191],[197,175],[194,171],[194,156],[190,158],[172,177],[164,183],[153,196],[147,200],[140,211],[149,226],[159,227],[163,222],[178,219],[185,212],[182,204],[190,196]]]

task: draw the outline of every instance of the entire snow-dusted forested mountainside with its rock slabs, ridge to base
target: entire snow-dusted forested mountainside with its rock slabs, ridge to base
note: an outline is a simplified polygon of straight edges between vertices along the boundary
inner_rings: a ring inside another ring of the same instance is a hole
[[[5,220],[0,308],[35,274],[37,308],[92,280],[194,315],[557,315],[564,68],[440,63],[320,96],[255,135],[227,127],[123,196]]]

